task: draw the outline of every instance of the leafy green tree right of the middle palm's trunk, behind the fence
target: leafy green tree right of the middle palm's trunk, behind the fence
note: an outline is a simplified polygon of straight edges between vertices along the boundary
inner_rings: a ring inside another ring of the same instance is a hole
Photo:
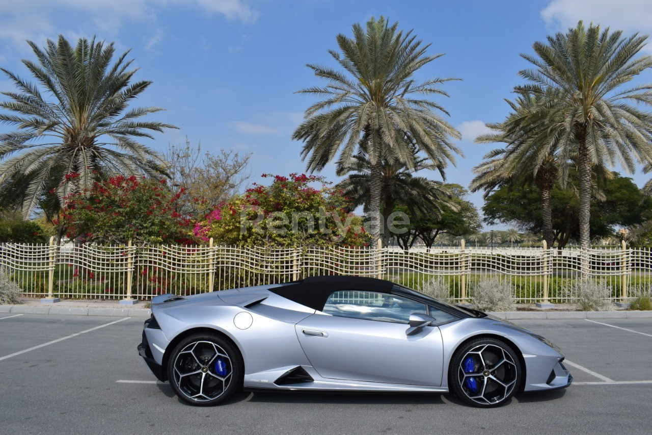
[[[413,246],[417,238],[421,238],[428,248],[439,240],[441,234],[451,236],[464,236],[480,231],[482,225],[478,210],[472,202],[467,201],[468,191],[459,184],[444,184],[444,187],[451,194],[449,202],[451,205],[439,204],[439,213],[417,212],[409,225],[398,225],[408,231],[397,234],[399,245],[403,249]],[[396,210],[401,210],[396,208]]]

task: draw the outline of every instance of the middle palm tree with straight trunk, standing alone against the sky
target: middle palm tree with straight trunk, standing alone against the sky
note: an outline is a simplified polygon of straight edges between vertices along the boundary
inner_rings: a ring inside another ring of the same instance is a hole
[[[417,82],[415,72],[441,54],[427,56],[429,44],[422,45],[412,31],[397,31],[385,18],[372,18],[366,31],[353,25],[353,38],[337,36],[341,54],[329,53],[346,71],[308,65],[316,76],[327,80],[324,87],[299,91],[323,97],[305,112],[305,120],[292,135],[304,142],[301,157],[308,159],[307,169],[319,171],[340,152],[348,161],[364,147],[370,163],[369,210],[372,236],[379,237],[383,179],[383,157],[400,161],[413,169],[423,152],[437,165],[454,163],[461,154],[451,137],[460,133],[437,112],[444,108],[422,95],[447,94],[437,85],[454,80],[432,78]]]

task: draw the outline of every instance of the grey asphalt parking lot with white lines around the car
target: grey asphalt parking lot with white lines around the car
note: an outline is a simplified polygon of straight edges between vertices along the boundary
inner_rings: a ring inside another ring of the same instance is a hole
[[[0,433],[652,432],[652,319],[516,323],[561,347],[571,387],[493,409],[452,395],[305,393],[238,393],[197,408],[138,356],[141,318],[0,314]]]

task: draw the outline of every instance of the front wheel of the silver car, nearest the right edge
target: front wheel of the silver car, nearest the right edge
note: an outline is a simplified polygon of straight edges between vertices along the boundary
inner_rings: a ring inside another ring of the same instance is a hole
[[[449,387],[478,408],[507,402],[518,390],[522,368],[518,355],[496,338],[477,338],[457,349],[449,365]]]

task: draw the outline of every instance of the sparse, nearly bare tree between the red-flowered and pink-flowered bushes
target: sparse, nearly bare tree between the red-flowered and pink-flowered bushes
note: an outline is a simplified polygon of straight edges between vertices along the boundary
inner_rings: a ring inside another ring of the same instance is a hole
[[[179,199],[179,212],[200,217],[239,193],[251,176],[250,157],[233,150],[202,152],[201,144],[192,146],[187,139],[184,146],[168,146],[170,185],[184,187],[187,193]]]

